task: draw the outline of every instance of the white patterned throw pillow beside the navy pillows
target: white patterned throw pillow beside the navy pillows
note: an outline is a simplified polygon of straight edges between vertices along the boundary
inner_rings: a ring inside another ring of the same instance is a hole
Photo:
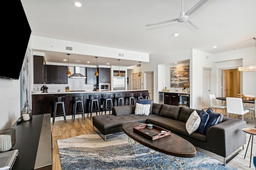
[[[186,130],[188,134],[191,134],[194,131],[196,131],[196,129],[198,129],[200,125],[200,122],[201,122],[201,118],[198,115],[198,113],[196,113],[196,110],[194,110],[191,113],[191,115],[188,117],[188,121],[186,122]]]

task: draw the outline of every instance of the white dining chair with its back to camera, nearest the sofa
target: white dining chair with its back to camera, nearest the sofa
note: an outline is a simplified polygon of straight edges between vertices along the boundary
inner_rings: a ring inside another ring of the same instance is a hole
[[[244,120],[244,114],[249,114],[248,109],[244,109],[242,98],[226,98],[226,111],[228,114],[232,113],[236,115],[236,119],[238,115],[241,115],[242,120]],[[248,115],[248,123],[249,123],[249,115]]]

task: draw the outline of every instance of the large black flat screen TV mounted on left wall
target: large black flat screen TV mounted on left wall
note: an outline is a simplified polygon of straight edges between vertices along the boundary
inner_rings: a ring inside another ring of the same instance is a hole
[[[20,0],[14,0],[11,3],[4,1],[2,6],[5,6],[5,10],[1,10],[0,78],[18,80],[31,29]]]

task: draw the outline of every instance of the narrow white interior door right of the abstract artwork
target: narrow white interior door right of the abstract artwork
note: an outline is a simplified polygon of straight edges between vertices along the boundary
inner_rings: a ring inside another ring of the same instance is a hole
[[[210,106],[209,94],[211,93],[211,69],[203,68],[203,84],[202,84],[202,107],[205,109]]]

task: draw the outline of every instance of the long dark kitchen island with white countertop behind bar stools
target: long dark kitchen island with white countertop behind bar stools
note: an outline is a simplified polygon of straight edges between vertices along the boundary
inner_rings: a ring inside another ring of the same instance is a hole
[[[73,110],[73,100],[74,96],[84,96],[84,110],[85,113],[88,113],[88,102],[87,99],[90,95],[100,95],[99,97],[99,105],[100,111],[102,111],[103,98],[105,94],[113,94],[113,105],[114,98],[119,93],[124,93],[125,97],[129,96],[130,93],[135,93],[135,96],[138,93],[145,93],[148,90],[114,90],[114,91],[76,91],[76,92],[48,92],[48,93],[32,93],[32,113],[33,115],[40,115],[45,113],[51,113],[51,117],[53,116],[53,97],[55,96],[65,96],[65,111],[66,116],[72,115]],[[126,98],[124,98],[125,100]],[[57,112],[60,111],[61,108],[57,108]]]

